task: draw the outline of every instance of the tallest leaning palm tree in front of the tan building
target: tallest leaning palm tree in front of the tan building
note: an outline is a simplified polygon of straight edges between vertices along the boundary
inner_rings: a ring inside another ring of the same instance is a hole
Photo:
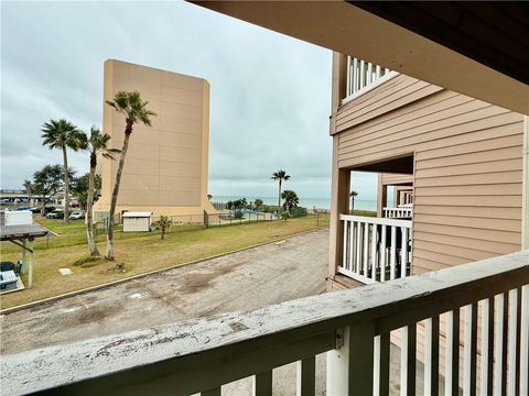
[[[127,156],[127,148],[129,147],[130,135],[136,123],[141,122],[147,127],[151,127],[151,117],[156,116],[155,112],[148,110],[147,100],[142,100],[139,91],[119,91],[114,97],[114,100],[106,101],[108,106],[112,107],[117,112],[125,116],[125,138],[121,148],[121,156],[119,157],[118,172],[116,173],[116,182],[114,183],[112,197],[110,200],[110,212],[107,233],[107,260],[114,260],[114,215],[116,213],[116,204],[118,201],[119,185],[121,183],[121,174],[123,172],[125,157]]]

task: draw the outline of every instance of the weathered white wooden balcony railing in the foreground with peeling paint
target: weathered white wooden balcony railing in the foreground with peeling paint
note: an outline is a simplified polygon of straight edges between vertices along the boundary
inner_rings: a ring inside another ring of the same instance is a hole
[[[328,351],[327,395],[388,395],[392,372],[400,373],[392,381],[401,395],[439,394],[440,382],[446,394],[527,395],[528,284],[525,251],[250,312],[2,355],[2,394],[220,395],[222,385],[251,376],[253,395],[271,395],[272,370],[298,362],[298,395],[314,395],[314,356]],[[395,333],[397,361],[389,359]]]

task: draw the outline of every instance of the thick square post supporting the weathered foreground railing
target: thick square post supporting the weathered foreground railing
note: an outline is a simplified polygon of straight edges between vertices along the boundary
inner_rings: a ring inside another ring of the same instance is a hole
[[[342,346],[327,352],[327,395],[373,395],[374,337],[374,322],[344,328]]]

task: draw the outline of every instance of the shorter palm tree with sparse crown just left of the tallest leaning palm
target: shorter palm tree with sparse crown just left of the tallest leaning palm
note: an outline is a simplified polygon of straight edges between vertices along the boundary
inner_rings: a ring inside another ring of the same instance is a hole
[[[120,153],[118,148],[109,148],[108,143],[110,135],[108,133],[101,133],[96,125],[90,129],[90,138],[87,140],[87,148],[90,152],[90,173],[88,176],[88,198],[86,200],[86,239],[88,241],[88,252],[91,256],[99,256],[96,241],[94,238],[94,190],[96,178],[97,156],[102,155],[104,158],[115,160],[114,155]]]

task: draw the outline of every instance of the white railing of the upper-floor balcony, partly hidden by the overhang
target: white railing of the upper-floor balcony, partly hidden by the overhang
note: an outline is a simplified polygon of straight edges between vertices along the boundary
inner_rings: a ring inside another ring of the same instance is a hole
[[[375,86],[378,80],[389,76],[389,74],[390,70],[388,68],[347,56],[345,100],[367,90],[370,86]]]

